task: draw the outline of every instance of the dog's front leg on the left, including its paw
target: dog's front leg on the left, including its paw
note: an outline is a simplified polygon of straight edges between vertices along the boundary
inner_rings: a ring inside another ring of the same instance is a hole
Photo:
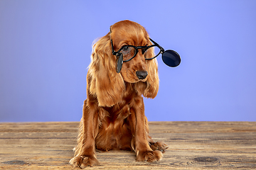
[[[95,155],[95,137],[98,132],[97,106],[85,100],[82,119],[80,122],[80,132],[78,135],[78,145],[75,147],[75,157],[70,160],[74,167],[85,168],[99,164]]]

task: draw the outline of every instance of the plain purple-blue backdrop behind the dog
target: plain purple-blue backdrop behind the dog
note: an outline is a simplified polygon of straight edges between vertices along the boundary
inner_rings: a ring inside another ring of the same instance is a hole
[[[92,42],[140,23],[181,65],[158,58],[149,120],[256,121],[256,1],[0,1],[0,122],[79,121]]]

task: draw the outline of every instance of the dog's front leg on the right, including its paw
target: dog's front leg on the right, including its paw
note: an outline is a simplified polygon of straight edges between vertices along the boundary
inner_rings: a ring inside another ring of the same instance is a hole
[[[132,123],[132,147],[136,152],[137,161],[156,162],[159,161],[163,154],[159,150],[153,151],[149,146],[148,127],[144,115],[144,103],[142,96],[134,98],[136,105],[130,109],[130,123]]]

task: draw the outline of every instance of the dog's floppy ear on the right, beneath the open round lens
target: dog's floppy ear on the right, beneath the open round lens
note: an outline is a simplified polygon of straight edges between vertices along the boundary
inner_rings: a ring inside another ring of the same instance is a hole
[[[154,56],[154,51],[151,50],[149,54]],[[153,60],[147,60],[148,76],[146,82],[139,81],[137,83],[137,91],[143,94],[146,98],[155,98],[159,90],[159,76],[158,76],[158,64],[156,58]]]

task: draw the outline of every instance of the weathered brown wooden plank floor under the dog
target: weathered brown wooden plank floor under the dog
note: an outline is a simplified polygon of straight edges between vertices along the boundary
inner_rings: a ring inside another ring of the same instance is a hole
[[[87,169],[256,169],[255,122],[151,122],[151,137],[169,149],[160,162],[134,152],[97,153]],[[72,169],[78,123],[0,123],[0,169]]]

